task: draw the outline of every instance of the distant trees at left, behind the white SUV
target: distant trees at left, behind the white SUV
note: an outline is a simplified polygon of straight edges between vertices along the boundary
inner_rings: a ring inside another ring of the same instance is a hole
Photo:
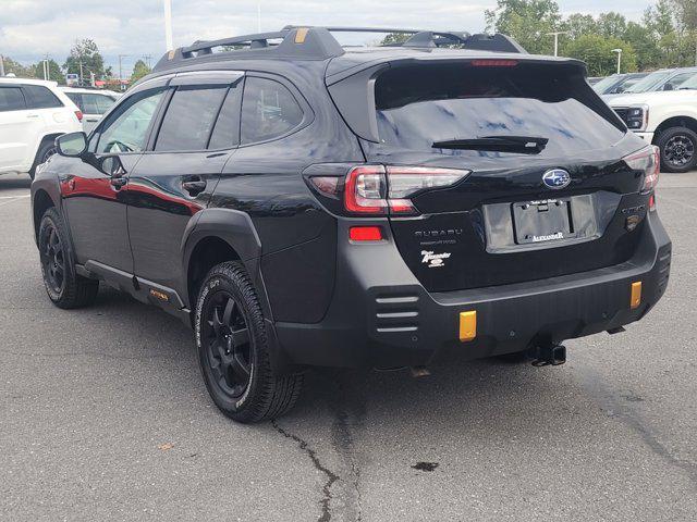
[[[48,79],[58,82],[59,84],[65,84],[66,74],[81,75],[85,85],[89,84],[93,76],[96,80],[101,79],[109,82],[118,79],[114,76],[113,69],[111,66],[105,66],[105,60],[99,52],[99,47],[90,38],[75,41],[75,45],[70,51],[70,55],[62,65],[53,59],[48,59],[47,63]],[[33,65],[22,65],[15,60],[12,60],[11,57],[4,57],[3,64],[5,74],[13,73],[17,77],[44,79],[44,61],[39,61]],[[140,79],[149,72],[150,66],[147,63],[143,60],[136,61],[130,77],[131,83]]]

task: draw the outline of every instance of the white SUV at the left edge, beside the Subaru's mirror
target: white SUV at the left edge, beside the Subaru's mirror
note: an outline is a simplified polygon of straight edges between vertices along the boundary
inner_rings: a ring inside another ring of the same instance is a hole
[[[82,130],[83,115],[56,82],[0,77],[0,174],[28,172],[56,153],[61,134]]]

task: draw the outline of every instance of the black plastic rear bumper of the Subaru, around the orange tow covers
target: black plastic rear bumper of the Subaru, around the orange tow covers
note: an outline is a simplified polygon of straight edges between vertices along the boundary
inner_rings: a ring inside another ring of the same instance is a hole
[[[477,359],[559,343],[641,319],[668,285],[671,243],[655,213],[627,262],[543,281],[428,293],[391,240],[339,241],[332,303],[317,324],[276,323],[279,348],[294,364],[393,368],[421,365],[457,350]],[[339,237],[347,225],[339,224]],[[641,303],[629,307],[632,283]],[[477,312],[477,336],[458,339],[460,312]]]

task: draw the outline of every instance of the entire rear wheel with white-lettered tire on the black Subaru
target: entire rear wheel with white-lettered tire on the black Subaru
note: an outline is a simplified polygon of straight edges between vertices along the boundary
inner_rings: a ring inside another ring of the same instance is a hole
[[[241,263],[208,272],[196,301],[194,337],[208,393],[225,415],[254,423],[295,405],[304,376],[273,372],[261,307]]]

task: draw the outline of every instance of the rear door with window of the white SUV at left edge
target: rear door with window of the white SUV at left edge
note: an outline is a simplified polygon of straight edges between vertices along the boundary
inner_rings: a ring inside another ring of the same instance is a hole
[[[0,170],[19,169],[29,144],[42,127],[39,114],[27,109],[19,85],[0,85]]]

